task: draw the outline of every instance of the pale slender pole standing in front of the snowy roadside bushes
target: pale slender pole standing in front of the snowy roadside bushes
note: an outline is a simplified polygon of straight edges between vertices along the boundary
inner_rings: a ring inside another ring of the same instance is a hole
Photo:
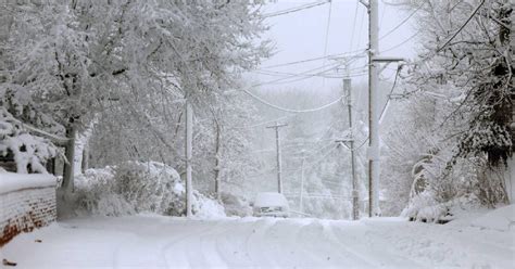
[[[192,134],[193,134],[193,108],[191,100],[186,97],[186,217],[191,217],[192,185],[191,185],[191,156],[192,156]]]

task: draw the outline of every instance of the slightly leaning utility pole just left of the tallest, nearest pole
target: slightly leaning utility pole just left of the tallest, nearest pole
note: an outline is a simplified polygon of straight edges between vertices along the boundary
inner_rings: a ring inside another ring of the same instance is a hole
[[[356,176],[356,158],[354,152],[354,130],[352,124],[352,85],[349,76],[349,68],[347,66],[348,76],[343,78],[343,90],[347,93],[347,110],[349,114],[349,148],[351,150],[351,171],[352,171],[352,219],[356,220],[360,218],[360,204],[359,204],[359,191],[357,191],[357,176]]]

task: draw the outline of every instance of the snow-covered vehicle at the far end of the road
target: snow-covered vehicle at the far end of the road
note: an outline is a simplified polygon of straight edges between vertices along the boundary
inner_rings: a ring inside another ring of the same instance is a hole
[[[290,206],[285,195],[276,192],[262,192],[255,196],[253,212],[255,217],[287,218]]]

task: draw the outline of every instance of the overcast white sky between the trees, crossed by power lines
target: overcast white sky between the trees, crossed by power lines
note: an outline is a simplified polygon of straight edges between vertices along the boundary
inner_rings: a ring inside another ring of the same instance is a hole
[[[278,0],[275,3],[268,3],[265,5],[263,13],[274,13],[312,2],[316,1]],[[368,39],[368,18],[365,7],[357,2],[357,0],[332,0],[331,4],[327,3],[299,12],[292,12],[289,14],[266,18],[265,22],[271,26],[266,37],[275,42],[276,54],[265,61],[262,64],[261,69],[267,73],[281,72],[298,74],[313,68],[319,68],[313,72],[307,72],[309,74],[313,74],[330,68],[331,64],[335,64],[335,62],[328,60],[324,63],[324,61],[321,60],[281,67],[271,66],[305,59],[319,57],[324,55],[346,53],[360,49],[364,50],[367,46]],[[329,8],[330,21],[328,20]],[[410,12],[400,10],[398,7],[385,4],[382,1],[380,1],[379,37],[389,33],[409,15]],[[412,37],[414,34],[414,30],[411,26],[413,22],[414,17],[409,20],[405,24],[400,26],[397,30],[392,31],[385,38],[381,38],[379,41],[380,51],[388,50],[399,43],[404,42],[406,39],[410,39],[410,37]],[[329,25],[328,31],[327,25]],[[327,51],[325,53],[327,33]],[[414,55],[413,44],[414,39],[403,43],[402,46],[399,46],[393,50],[385,52],[384,55],[411,57]],[[355,82],[359,82],[360,80],[366,81],[367,76],[366,73],[364,73],[365,69],[360,69],[360,67],[364,67],[366,63],[365,60],[366,57],[351,66],[351,74],[362,74],[362,76],[354,78]],[[324,65],[326,68],[321,68]],[[392,66],[392,68],[394,68],[394,66]],[[327,74],[337,76],[338,72],[334,71]],[[282,74],[273,75],[274,76],[261,74],[258,75],[256,78],[260,81],[272,81],[284,77]],[[393,73],[388,71],[382,75],[385,78],[393,77]],[[299,78],[296,77],[292,79]],[[289,80],[292,79],[277,81],[275,84],[262,86],[262,88],[281,89],[302,87],[312,89],[327,89],[337,87],[341,82],[340,78],[326,78],[325,81],[323,81],[322,78],[309,78],[289,82]]]

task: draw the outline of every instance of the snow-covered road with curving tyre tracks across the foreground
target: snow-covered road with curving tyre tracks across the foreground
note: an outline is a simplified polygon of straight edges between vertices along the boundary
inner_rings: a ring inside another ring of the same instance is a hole
[[[62,221],[1,252],[15,268],[514,268],[515,232],[397,218],[134,216]]]

